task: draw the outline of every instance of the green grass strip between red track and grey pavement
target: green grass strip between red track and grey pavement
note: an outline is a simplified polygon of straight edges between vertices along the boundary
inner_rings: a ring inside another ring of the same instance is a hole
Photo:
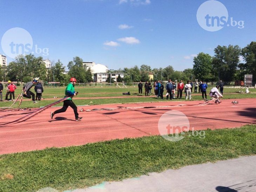
[[[206,130],[205,138],[190,134],[178,142],[149,136],[1,155],[0,189],[85,188],[103,181],[256,154],[256,125]]]

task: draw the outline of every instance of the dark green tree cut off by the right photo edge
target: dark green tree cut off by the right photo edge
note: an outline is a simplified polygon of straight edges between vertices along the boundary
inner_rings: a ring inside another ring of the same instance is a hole
[[[244,71],[244,74],[252,74],[252,81],[256,81],[256,42],[252,41],[246,47],[242,49],[242,56],[245,60],[245,64],[241,64],[240,70]]]

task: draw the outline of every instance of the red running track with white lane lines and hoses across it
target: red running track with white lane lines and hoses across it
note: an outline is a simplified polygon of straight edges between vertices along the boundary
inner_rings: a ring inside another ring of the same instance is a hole
[[[0,127],[0,154],[42,150],[50,147],[83,145],[111,139],[159,135],[158,122],[167,111],[183,112],[194,130],[235,128],[256,123],[256,98],[222,100],[221,104],[197,105],[203,101],[175,101],[136,104],[83,106],[87,109],[113,108],[79,112],[82,121],[74,121],[71,108],[50,119],[50,108],[24,122]],[[123,109],[124,107],[129,109]],[[144,108],[151,107],[151,108]],[[80,107],[78,107],[80,108]],[[0,112],[0,125],[26,115],[29,111]],[[15,115],[13,115],[15,114]]]

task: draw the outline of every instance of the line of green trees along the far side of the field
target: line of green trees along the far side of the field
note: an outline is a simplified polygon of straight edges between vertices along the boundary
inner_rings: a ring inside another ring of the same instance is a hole
[[[203,80],[206,82],[214,82],[222,80],[231,82],[235,80],[243,80],[245,74],[252,74],[253,81],[256,81],[256,42],[252,41],[244,48],[238,45],[220,46],[214,49],[214,56],[206,53],[199,53],[194,57],[193,68],[183,71],[176,71],[169,65],[165,68],[153,68],[146,64],[142,64],[140,68],[136,65],[132,68],[124,68],[118,70],[107,71],[106,73],[123,73],[117,82],[146,82],[153,80],[168,81],[171,80]],[[240,62],[242,56],[244,62]],[[80,83],[92,82],[93,74],[90,69],[86,69],[83,60],[76,56],[73,61],[67,65],[68,74],[64,74],[65,67],[63,63],[51,62],[50,67],[46,67],[42,57],[35,57],[32,54],[18,55],[15,60],[10,62],[8,66],[0,69],[0,77],[4,81],[31,81],[32,78],[39,78],[43,81],[59,81],[67,83],[70,77],[75,77]],[[150,79],[150,74],[153,78]],[[109,76],[107,82],[114,82]]]

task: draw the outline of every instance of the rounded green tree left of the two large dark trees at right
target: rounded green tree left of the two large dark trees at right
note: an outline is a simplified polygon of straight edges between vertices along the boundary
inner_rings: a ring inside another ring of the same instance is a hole
[[[199,53],[194,57],[193,73],[195,79],[203,81],[211,81],[213,78],[212,74],[212,58],[209,54],[203,52]]]

